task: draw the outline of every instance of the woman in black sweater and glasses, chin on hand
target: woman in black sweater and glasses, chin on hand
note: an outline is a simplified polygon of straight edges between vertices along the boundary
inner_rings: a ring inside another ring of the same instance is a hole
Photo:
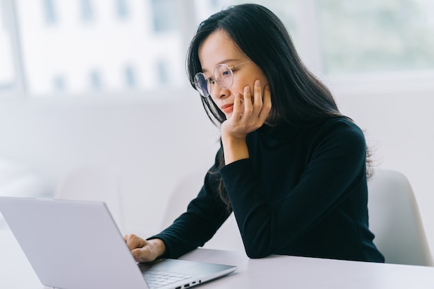
[[[136,261],[204,245],[234,211],[250,258],[270,254],[383,262],[368,228],[363,132],[302,64],[270,10],[232,6],[200,24],[189,79],[220,127],[221,148],[186,213]]]

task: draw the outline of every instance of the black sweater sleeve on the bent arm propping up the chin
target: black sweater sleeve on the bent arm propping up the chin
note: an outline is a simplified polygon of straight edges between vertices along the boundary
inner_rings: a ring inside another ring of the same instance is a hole
[[[332,125],[318,133],[300,180],[267,200],[251,159],[220,169],[251,258],[276,254],[297,240],[365,181],[365,138],[356,125]],[[275,166],[291,166],[281,159]],[[284,182],[284,181],[282,181]]]

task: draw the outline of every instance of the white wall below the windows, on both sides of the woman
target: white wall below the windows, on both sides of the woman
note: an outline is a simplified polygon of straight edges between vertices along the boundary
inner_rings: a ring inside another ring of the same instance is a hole
[[[342,112],[365,130],[376,166],[407,175],[434,248],[433,91],[335,94]],[[0,160],[28,164],[53,184],[76,166],[115,170],[125,232],[148,236],[161,227],[175,185],[194,170],[202,177],[218,147],[218,132],[196,94],[179,95],[0,100]]]

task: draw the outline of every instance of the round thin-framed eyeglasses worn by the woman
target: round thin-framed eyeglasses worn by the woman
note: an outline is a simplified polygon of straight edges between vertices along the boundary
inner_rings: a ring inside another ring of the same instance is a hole
[[[205,73],[196,73],[193,79],[194,87],[199,91],[200,96],[208,97],[211,94],[211,84],[217,83],[221,89],[229,89],[234,83],[234,71],[232,69],[248,63],[252,60],[241,62],[232,67],[228,67],[226,64],[218,64],[213,71],[213,78],[205,76]]]

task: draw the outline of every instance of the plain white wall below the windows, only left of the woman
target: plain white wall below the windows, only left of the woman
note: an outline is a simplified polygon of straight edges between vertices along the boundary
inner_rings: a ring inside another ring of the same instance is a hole
[[[0,159],[28,164],[53,189],[78,166],[114,170],[125,231],[155,233],[173,186],[189,170],[205,175],[214,161],[217,130],[193,95],[166,101],[2,101]]]

